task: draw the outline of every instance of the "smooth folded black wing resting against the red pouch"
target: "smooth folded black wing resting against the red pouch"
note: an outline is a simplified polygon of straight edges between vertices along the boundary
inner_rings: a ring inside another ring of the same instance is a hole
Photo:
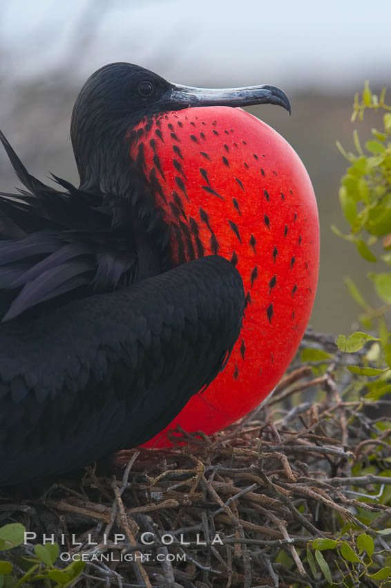
[[[204,257],[0,326],[0,483],[82,468],[151,439],[225,365],[242,280]]]

